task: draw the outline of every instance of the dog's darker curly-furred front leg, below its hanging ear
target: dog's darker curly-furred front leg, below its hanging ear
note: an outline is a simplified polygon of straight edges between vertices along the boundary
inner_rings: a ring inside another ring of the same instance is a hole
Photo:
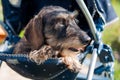
[[[56,54],[57,52],[54,51],[52,47],[44,45],[39,50],[31,51],[29,54],[29,58],[37,64],[41,64],[45,60],[52,58]]]

